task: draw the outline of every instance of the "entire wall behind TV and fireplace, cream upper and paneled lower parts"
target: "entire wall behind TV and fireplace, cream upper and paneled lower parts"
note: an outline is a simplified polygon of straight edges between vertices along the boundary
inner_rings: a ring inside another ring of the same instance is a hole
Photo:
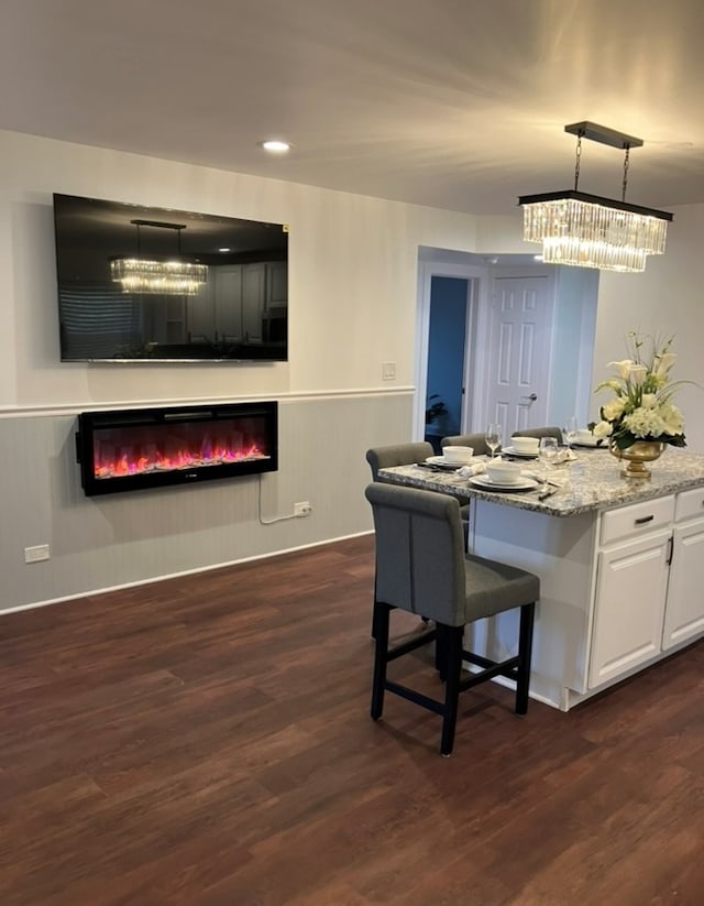
[[[471,251],[474,218],[12,132],[0,162],[0,610],[370,531],[364,451],[413,434],[418,247]],[[289,223],[289,362],[61,363],[54,192]],[[258,479],[84,496],[81,410],[253,396],[280,403],[262,515],[309,519],[262,525]]]

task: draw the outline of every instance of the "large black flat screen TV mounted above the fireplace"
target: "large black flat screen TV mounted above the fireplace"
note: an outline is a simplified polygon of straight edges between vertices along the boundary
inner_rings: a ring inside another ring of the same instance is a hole
[[[54,195],[65,362],[287,361],[288,227]]]

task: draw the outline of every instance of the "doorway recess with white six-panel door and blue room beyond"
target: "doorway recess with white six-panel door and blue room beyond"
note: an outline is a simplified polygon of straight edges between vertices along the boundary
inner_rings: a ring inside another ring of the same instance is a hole
[[[597,293],[598,271],[546,265],[525,254],[487,258],[421,247],[414,437],[438,449],[442,437],[481,432],[502,413],[507,434],[562,425],[573,415],[586,425]],[[541,306],[543,314],[534,318],[531,307],[538,313]],[[440,403],[429,423],[428,411]]]

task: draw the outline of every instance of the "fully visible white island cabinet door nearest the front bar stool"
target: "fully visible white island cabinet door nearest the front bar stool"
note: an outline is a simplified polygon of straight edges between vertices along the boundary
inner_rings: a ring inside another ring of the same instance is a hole
[[[670,537],[662,532],[598,555],[591,689],[660,652]]]

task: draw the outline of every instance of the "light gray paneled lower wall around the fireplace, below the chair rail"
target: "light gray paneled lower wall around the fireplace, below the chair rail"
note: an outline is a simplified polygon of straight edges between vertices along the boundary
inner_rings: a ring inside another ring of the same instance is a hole
[[[411,407],[408,391],[283,399],[279,468],[261,489],[252,476],[91,499],[77,412],[0,417],[0,611],[369,532],[364,452],[408,438]],[[298,501],[312,515],[263,525],[260,491],[264,520]],[[51,559],[25,564],[24,548],[44,544]]]

